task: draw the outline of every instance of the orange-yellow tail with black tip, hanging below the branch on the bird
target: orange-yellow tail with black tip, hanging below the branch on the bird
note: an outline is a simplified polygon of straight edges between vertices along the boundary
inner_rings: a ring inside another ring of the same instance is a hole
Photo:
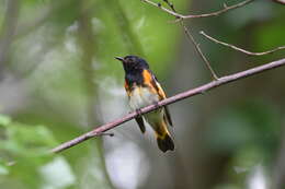
[[[168,150],[169,151],[174,150],[174,142],[170,137],[170,133],[167,128],[167,123],[164,121],[157,125],[156,135],[157,135],[158,146],[162,152],[167,152]]]

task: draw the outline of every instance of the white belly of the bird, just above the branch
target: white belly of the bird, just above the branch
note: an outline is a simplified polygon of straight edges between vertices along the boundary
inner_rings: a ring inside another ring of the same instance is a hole
[[[129,106],[133,110],[146,107],[159,101],[159,96],[157,94],[152,94],[146,87],[136,87],[136,90],[132,91],[132,95],[129,97]]]

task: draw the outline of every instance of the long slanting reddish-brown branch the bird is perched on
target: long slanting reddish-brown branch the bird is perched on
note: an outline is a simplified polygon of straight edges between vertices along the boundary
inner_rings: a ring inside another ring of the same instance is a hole
[[[266,63],[266,64],[263,64],[263,66],[259,66],[259,67],[255,67],[255,68],[252,68],[252,69],[249,69],[249,70],[246,70],[246,71],[241,71],[241,72],[238,72],[238,73],[233,73],[233,74],[230,74],[230,75],[227,75],[227,76],[219,78],[219,80],[212,81],[212,82],[204,84],[202,86],[198,86],[196,88],[189,90],[189,91],[183,92],[183,93],[179,93],[179,94],[176,94],[172,97],[166,98],[166,99],[158,102],[153,105],[149,105],[147,107],[144,107],[144,108],[141,108],[140,114],[146,114],[146,113],[152,111],[152,110],[158,109],[162,106],[173,104],[175,102],[189,98],[189,97],[194,96],[194,95],[203,94],[206,91],[218,87],[220,85],[224,85],[224,84],[237,81],[237,80],[241,80],[243,78],[248,78],[248,76],[261,73],[263,71],[272,70],[272,69],[275,69],[275,68],[278,68],[278,67],[282,67],[282,66],[285,66],[285,58],[270,62],[270,63]],[[77,145],[77,144],[79,144],[79,143],[81,143],[81,142],[90,139],[90,138],[101,135],[103,132],[105,132],[110,129],[113,129],[113,128],[115,128],[115,127],[117,127],[117,126],[119,126],[119,125],[122,125],[126,121],[129,121],[137,116],[139,116],[137,111],[130,113],[130,114],[124,116],[123,118],[118,118],[118,119],[116,119],[112,122],[109,122],[106,125],[98,127],[96,129],[94,129],[90,132],[87,132],[87,133],[71,140],[71,141],[65,142],[65,143],[60,144],[59,146],[53,149],[52,152],[58,153],[58,152],[61,152],[64,150],[71,147],[71,146],[75,146],[75,145]]]

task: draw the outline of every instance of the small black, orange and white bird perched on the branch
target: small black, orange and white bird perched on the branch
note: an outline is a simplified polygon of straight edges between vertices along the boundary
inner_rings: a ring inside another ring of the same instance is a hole
[[[166,93],[160,86],[155,74],[149,69],[146,60],[137,56],[115,57],[122,61],[125,70],[125,90],[128,95],[129,106],[137,110],[151,104],[156,104],[166,98]],[[162,152],[174,150],[173,140],[170,137],[168,126],[172,126],[172,120],[168,107],[156,109],[144,115],[145,120],[155,130],[158,146]],[[136,121],[144,133],[146,127],[141,116]]]

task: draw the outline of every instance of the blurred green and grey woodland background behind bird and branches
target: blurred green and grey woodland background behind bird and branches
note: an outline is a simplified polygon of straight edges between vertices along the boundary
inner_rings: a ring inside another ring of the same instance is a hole
[[[159,2],[159,1],[155,1]],[[184,14],[241,1],[173,1]],[[285,57],[285,7],[259,0],[186,20],[218,75]],[[285,68],[169,106],[175,151],[158,150],[134,120],[60,154],[49,150],[129,111],[115,56],[150,63],[169,96],[210,81],[173,17],[139,0],[0,1],[1,189],[285,188]]]

